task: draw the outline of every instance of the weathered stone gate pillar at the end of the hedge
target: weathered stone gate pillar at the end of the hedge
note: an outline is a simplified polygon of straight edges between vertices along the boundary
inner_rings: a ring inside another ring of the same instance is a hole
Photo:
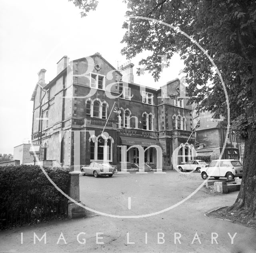
[[[76,202],[84,205],[84,203],[80,202],[80,189],[79,189],[79,174],[80,172],[72,171],[69,172],[71,175],[70,179],[70,190],[69,196]],[[86,215],[86,210],[81,206],[78,206],[76,203],[68,200],[68,217],[73,218],[80,218]]]

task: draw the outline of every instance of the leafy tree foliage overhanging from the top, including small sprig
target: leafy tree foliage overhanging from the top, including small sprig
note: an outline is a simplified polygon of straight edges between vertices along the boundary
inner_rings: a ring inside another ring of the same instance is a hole
[[[97,1],[77,1],[84,10],[95,10]],[[166,22],[180,28],[199,43],[218,67],[227,94],[216,69],[206,55],[184,35],[158,22],[131,18],[123,24],[128,29],[122,42],[122,54],[128,59],[146,50],[151,52],[140,64],[155,80],[161,74],[161,57],[167,65],[180,53],[186,65],[186,81],[190,102],[234,122],[236,132],[247,135],[248,127],[256,125],[256,2],[252,0],[124,0],[128,16],[138,16]],[[228,107],[227,107],[228,104]]]

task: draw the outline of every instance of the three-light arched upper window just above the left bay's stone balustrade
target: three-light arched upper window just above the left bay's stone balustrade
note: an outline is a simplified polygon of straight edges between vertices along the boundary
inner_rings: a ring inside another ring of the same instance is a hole
[[[100,99],[87,99],[85,102],[86,117],[94,117],[100,119],[108,118],[108,103],[100,101]]]

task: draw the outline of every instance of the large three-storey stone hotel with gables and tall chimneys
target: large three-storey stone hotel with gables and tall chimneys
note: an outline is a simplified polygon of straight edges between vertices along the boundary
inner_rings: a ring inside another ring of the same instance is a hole
[[[49,83],[41,69],[31,97],[32,143],[41,146],[39,160],[70,169],[103,160],[120,166],[120,150],[126,146],[122,162],[127,168],[138,167],[134,145],[145,150],[145,168],[156,168],[157,159],[172,169],[194,158],[194,134],[186,144],[193,128],[192,107],[185,95],[175,97],[185,94],[184,85],[178,79],[159,89],[138,85],[133,67],[128,62],[115,69],[95,53],[72,62],[62,57]],[[154,145],[162,148],[162,156]]]

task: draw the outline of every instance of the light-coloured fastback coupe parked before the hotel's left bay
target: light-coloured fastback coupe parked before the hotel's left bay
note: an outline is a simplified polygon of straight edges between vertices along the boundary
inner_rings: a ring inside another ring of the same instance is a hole
[[[84,166],[81,168],[82,175],[94,175],[96,178],[98,176],[112,177],[116,172],[116,169],[112,167],[108,162],[91,162],[89,166]]]

